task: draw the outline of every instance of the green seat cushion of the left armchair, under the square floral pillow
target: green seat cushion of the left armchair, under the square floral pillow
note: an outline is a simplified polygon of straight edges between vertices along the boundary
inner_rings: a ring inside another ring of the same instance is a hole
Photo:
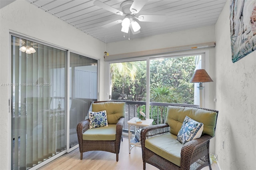
[[[116,140],[116,125],[89,128],[83,133],[83,140]]]

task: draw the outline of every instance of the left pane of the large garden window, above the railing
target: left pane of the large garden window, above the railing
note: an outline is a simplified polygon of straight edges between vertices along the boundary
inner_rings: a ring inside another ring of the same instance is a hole
[[[112,100],[146,101],[146,61],[110,64]]]

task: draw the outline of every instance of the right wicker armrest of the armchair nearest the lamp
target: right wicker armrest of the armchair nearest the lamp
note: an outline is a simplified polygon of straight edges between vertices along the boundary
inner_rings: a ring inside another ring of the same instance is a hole
[[[190,165],[204,156],[208,156],[209,143],[212,136],[203,135],[200,138],[191,140],[181,148],[181,169],[189,170]]]

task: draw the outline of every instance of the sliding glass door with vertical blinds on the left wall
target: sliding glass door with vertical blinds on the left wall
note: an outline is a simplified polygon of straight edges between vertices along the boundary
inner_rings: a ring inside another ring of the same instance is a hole
[[[98,60],[11,40],[12,169],[25,170],[78,144],[76,125],[97,100]]]

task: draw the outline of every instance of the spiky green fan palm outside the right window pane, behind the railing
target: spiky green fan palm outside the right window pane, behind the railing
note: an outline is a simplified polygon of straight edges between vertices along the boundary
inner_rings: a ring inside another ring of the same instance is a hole
[[[182,98],[172,87],[160,86],[150,89],[150,101],[159,103],[182,103]],[[160,123],[163,123],[164,107],[159,106],[159,110],[161,114]]]

